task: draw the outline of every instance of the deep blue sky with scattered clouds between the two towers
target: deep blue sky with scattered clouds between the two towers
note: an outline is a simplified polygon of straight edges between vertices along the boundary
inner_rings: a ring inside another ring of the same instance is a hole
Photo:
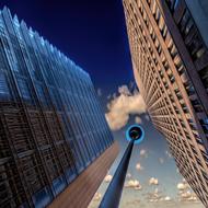
[[[1,0],[19,20],[88,71],[120,153],[89,208],[96,208],[127,147],[125,129],[142,125],[145,141],[132,151],[122,208],[201,208],[177,172],[165,139],[151,124],[136,89],[120,0]]]

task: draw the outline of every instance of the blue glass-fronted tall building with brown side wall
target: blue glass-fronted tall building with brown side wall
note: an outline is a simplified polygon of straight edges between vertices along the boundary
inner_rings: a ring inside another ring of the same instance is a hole
[[[117,152],[89,74],[0,11],[0,207],[85,208]]]

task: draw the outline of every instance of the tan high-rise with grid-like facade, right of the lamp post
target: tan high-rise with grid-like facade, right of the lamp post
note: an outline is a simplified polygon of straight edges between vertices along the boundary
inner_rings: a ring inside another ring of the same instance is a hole
[[[152,123],[208,207],[208,2],[124,0],[124,8],[134,73]]]

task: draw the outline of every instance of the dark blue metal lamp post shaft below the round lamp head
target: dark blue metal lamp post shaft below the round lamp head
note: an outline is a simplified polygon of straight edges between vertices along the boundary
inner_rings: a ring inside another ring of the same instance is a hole
[[[135,140],[130,140],[99,208],[118,207],[134,143]]]

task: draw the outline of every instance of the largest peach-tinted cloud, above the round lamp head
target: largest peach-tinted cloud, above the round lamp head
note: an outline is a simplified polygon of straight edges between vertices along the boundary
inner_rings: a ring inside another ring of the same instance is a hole
[[[146,113],[145,102],[138,91],[130,92],[127,85],[118,88],[118,95],[114,94],[113,100],[107,104],[105,114],[112,130],[119,130],[129,120],[130,115]]]

